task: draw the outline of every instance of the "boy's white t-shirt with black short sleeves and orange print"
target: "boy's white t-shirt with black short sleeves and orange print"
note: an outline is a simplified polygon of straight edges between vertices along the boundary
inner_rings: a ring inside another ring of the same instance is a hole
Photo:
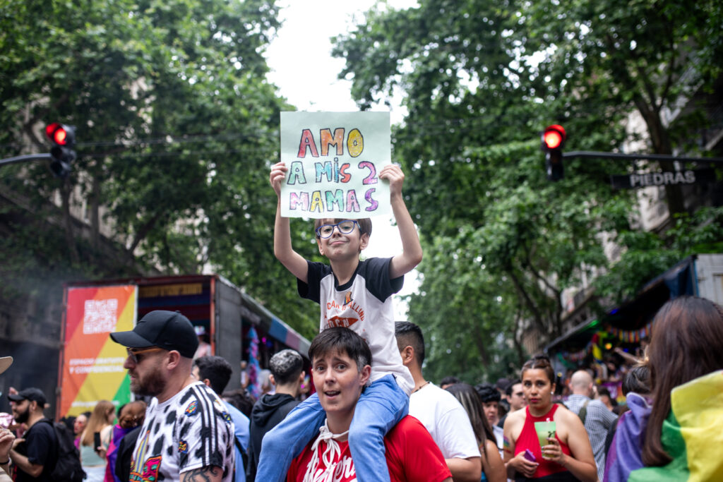
[[[371,381],[393,374],[407,395],[414,379],[402,363],[394,332],[392,295],[401,290],[404,277],[389,279],[391,258],[359,262],[351,280],[338,285],[331,267],[307,261],[307,283],[298,280],[299,295],[321,305],[319,331],[348,327],[366,340],[372,350]]]

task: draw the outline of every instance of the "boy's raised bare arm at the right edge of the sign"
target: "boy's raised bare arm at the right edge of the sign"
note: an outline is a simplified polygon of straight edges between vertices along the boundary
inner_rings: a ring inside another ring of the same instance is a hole
[[[394,279],[414,270],[414,267],[422,261],[422,245],[419,244],[414,221],[411,220],[402,197],[404,173],[401,168],[395,164],[385,165],[379,177],[389,181],[392,212],[402,240],[402,254],[393,257],[389,265],[389,277]]]

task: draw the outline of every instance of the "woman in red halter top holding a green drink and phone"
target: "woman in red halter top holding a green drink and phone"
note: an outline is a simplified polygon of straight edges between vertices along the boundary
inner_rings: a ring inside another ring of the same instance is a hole
[[[552,403],[555,371],[547,356],[535,356],[521,372],[527,407],[505,420],[505,468],[515,481],[595,482],[597,469],[587,432],[580,418]],[[555,436],[540,447],[535,422],[554,421]],[[526,451],[527,456],[526,456]],[[529,457],[531,452],[532,457]],[[544,456],[544,457],[543,457]],[[534,458],[534,460],[530,460]]]

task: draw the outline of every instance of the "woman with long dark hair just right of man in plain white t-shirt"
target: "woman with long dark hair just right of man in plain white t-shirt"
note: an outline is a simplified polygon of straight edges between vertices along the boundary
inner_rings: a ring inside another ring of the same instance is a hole
[[[482,399],[474,387],[466,383],[455,383],[445,390],[459,400],[469,416],[472,431],[479,445],[479,453],[482,454],[482,481],[505,482],[505,465],[500,459],[500,453],[497,452],[495,434],[489,426],[487,417],[484,416]]]

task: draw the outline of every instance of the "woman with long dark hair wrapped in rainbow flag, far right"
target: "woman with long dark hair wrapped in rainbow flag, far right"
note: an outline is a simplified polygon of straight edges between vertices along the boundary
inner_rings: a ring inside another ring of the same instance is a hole
[[[647,352],[652,405],[630,405],[620,420],[604,480],[628,481],[633,474],[720,480],[723,308],[696,296],[675,298],[655,315],[652,332]]]

